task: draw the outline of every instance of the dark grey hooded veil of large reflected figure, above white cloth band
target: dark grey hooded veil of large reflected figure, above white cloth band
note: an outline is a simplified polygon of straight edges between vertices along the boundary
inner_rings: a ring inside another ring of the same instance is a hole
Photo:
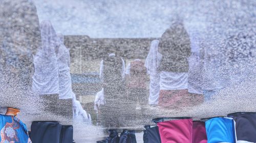
[[[161,71],[182,73],[188,71],[187,58],[191,54],[189,36],[182,21],[172,24],[162,35],[159,52],[163,55]]]

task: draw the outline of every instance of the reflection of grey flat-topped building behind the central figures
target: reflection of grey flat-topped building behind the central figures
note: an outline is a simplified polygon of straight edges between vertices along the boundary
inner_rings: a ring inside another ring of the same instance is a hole
[[[108,48],[114,48],[124,60],[145,59],[154,39],[65,36],[65,45],[70,48],[71,54],[71,73],[97,72],[100,60]]]

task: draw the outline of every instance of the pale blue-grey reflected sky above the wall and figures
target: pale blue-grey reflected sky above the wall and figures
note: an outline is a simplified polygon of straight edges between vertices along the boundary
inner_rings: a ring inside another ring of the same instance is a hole
[[[205,28],[202,23],[229,21],[224,25],[230,27],[245,20],[252,22],[256,13],[255,1],[31,1],[39,21],[51,20],[56,31],[64,35],[91,38],[161,37],[176,15],[184,18],[186,26],[201,29]]]

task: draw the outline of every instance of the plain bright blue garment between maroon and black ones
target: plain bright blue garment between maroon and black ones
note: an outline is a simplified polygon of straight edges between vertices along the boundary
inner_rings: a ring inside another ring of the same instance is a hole
[[[235,142],[233,120],[212,118],[205,122],[208,143]]]

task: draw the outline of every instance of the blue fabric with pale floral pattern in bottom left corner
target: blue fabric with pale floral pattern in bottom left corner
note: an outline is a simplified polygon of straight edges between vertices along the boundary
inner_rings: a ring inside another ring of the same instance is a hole
[[[19,119],[0,115],[0,142],[31,143],[27,126]]]

